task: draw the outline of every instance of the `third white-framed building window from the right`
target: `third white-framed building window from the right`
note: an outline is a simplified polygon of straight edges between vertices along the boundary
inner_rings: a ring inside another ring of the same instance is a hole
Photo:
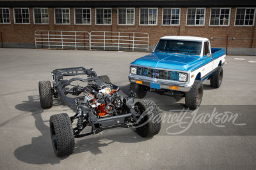
[[[188,8],[187,25],[204,25],[205,8]]]

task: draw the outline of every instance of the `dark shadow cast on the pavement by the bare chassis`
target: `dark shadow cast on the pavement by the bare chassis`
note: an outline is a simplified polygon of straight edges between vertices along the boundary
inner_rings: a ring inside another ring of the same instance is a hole
[[[56,107],[56,110],[54,110],[54,106],[58,106],[58,108]],[[69,110],[69,108],[65,107],[63,103],[58,100],[54,100],[54,106],[51,108],[51,111],[55,113]],[[65,108],[60,110],[61,106]],[[31,144],[20,146],[15,150],[14,155],[17,159],[28,164],[59,164],[61,160],[67,159],[68,156],[59,158],[54,154],[49,126],[47,125],[49,121],[45,121],[42,118],[42,114],[49,110],[42,110],[38,96],[28,96],[28,101],[17,104],[15,108],[20,111],[31,111],[32,116],[35,118],[35,127],[41,133],[40,136],[31,139]],[[108,131],[110,132],[111,130],[113,129]],[[86,154],[86,152],[90,152],[97,155],[102,153],[100,147],[108,146],[111,143],[138,143],[150,139],[141,138],[131,129],[115,129],[113,131],[115,134],[111,135],[104,135],[104,132],[105,131],[82,139],[76,139],[74,154],[82,152]]]

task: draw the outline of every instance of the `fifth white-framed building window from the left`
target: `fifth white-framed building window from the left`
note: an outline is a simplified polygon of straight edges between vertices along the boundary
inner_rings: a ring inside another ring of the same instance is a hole
[[[75,8],[75,24],[91,24],[91,8]]]

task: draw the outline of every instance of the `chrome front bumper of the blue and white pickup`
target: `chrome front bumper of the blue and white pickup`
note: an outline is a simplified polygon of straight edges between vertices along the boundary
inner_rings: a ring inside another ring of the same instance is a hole
[[[188,92],[191,89],[191,87],[188,86],[188,83],[180,82],[180,81],[177,82],[177,81],[170,81],[170,80],[159,80],[156,78],[148,78],[145,76],[138,76],[133,74],[130,74],[128,78],[131,83],[136,83],[136,80],[140,80],[142,81],[142,85],[145,85],[148,87],[150,87],[150,83],[158,83],[160,84],[160,89],[174,90],[174,89],[170,89],[170,86],[178,87],[178,90],[175,90],[175,91],[179,91],[179,92]]]

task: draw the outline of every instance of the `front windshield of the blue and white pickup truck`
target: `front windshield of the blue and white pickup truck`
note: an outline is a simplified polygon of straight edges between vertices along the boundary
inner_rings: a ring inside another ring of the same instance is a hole
[[[160,39],[155,52],[186,53],[200,55],[202,42]]]

